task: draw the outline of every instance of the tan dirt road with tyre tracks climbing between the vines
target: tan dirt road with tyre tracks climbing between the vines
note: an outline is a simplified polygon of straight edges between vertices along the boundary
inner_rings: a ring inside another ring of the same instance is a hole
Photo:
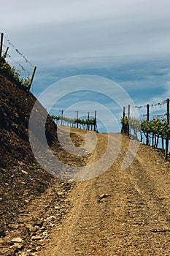
[[[98,135],[98,141],[90,163],[104,153],[107,135]],[[140,145],[131,166],[121,170],[128,143],[123,137],[109,170],[77,182],[69,214],[36,255],[170,255],[170,165],[158,151]]]

